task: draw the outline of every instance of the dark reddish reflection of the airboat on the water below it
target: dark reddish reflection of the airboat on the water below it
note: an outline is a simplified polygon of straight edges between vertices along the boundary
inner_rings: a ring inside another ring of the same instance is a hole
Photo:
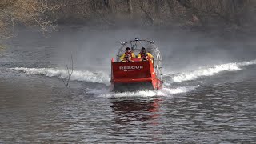
[[[125,125],[131,122],[152,121],[158,124],[161,99],[110,98],[115,122]]]

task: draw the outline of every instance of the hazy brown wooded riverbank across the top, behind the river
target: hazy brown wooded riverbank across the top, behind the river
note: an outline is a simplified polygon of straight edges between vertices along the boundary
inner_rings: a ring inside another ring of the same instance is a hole
[[[1,0],[0,36],[19,26],[57,30],[58,24],[184,26],[255,30],[255,0]]]

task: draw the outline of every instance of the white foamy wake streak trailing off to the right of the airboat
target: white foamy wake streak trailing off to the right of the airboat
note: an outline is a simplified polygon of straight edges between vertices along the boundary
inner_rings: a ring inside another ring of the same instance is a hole
[[[234,63],[226,63],[222,65],[207,66],[207,67],[199,68],[198,70],[194,70],[186,73],[167,74],[167,76],[170,76],[171,79],[169,79],[170,81],[169,83],[166,82],[166,85],[168,86],[172,82],[184,82],[184,81],[195,80],[203,76],[212,76],[222,71],[238,71],[238,70],[242,70],[242,66],[250,66],[255,64],[256,64],[256,59],[252,61],[234,62]]]

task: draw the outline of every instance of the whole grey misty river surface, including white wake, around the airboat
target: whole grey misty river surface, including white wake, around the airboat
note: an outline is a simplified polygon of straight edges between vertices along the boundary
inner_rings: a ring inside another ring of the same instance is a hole
[[[230,49],[218,39],[163,33],[22,31],[0,56],[0,143],[255,143],[254,43]],[[158,40],[162,90],[110,92],[110,58],[132,35]]]

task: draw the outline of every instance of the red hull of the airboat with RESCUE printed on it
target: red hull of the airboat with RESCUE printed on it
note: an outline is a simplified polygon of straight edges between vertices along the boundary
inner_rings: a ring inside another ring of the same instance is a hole
[[[133,58],[134,62],[111,61],[111,86],[114,91],[131,90],[159,90],[162,81],[154,72],[151,60],[140,61]]]

